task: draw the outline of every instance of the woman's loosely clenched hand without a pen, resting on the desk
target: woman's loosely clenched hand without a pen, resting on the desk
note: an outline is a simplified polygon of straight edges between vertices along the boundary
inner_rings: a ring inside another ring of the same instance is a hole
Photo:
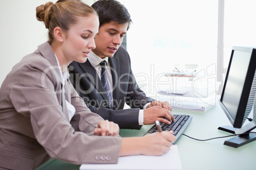
[[[108,120],[100,121],[98,127],[94,129],[94,134],[97,136],[118,136],[119,126]]]

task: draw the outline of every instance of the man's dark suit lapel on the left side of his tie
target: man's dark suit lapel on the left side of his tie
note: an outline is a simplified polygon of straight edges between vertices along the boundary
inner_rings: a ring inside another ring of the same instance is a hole
[[[78,64],[86,74],[86,76],[83,76],[83,78],[89,79],[90,82],[92,82],[92,85],[94,86],[94,88],[97,89],[97,91],[99,91],[99,94],[101,94],[104,100],[108,100],[108,96],[106,95],[105,89],[103,88],[101,79],[99,79],[99,75],[97,74],[94,67],[92,67],[89,60],[87,60],[85,63],[78,63]]]

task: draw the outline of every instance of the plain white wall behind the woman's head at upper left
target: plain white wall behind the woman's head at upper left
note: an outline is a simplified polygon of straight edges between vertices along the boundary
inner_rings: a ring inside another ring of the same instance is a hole
[[[47,41],[44,23],[36,20],[36,7],[48,1],[51,0],[0,0],[0,86],[23,56]],[[89,5],[94,1],[83,0]]]

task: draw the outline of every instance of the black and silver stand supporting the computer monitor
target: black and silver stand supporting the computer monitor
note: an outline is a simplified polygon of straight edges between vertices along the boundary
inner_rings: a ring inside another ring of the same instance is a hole
[[[256,133],[248,133],[255,128],[256,128],[256,97],[253,103],[253,121],[252,122],[249,122],[248,124],[243,126],[241,129],[233,128],[232,126],[222,126],[222,127],[219,127],[218,129],[222,131],[226,131],[228,133],[232,133],[232,134],[240,134],[224,142],[224,145],[238,148],[245,145],[246,143],[250,143],[256,140]]]

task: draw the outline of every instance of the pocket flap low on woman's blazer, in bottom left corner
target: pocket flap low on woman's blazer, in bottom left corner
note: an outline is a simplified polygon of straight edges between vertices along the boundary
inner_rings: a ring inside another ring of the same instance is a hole
[[[33,169],[34,159],[0,150],[0,167],[6,169]]]

